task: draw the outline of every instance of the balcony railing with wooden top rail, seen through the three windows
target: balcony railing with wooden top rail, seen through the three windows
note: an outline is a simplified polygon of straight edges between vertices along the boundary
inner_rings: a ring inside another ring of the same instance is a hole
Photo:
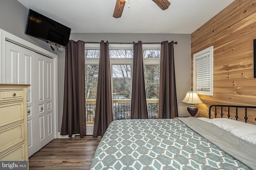
[[[94,123],[96,100],[86,100],[86,124]],[[158,119],[158,99],[147,99],[148,118]],[[113,99],[113,120],[130,119],[131,100]]]

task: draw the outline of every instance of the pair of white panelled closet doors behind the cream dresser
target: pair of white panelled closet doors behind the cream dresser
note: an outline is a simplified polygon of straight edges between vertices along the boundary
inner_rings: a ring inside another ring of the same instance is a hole
[[[30,84],[28,88],[28,155],[54,139],[53,59],[5,41],[6,84]]]

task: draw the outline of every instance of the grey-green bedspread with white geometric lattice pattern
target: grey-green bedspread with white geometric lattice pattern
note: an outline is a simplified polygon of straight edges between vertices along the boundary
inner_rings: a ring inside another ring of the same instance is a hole
[[[90,169],[248,170],[178,119],[113,121]]]

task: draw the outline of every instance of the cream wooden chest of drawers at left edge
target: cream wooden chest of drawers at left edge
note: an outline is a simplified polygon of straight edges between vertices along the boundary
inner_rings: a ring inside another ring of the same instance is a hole
[[[0,160],[28,161],[27,84],[0,84]]]

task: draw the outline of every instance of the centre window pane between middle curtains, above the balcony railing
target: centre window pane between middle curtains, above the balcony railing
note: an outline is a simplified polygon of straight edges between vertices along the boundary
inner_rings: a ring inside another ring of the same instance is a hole
[[[113,99],[130,99],[131,65],[112,65]]]

